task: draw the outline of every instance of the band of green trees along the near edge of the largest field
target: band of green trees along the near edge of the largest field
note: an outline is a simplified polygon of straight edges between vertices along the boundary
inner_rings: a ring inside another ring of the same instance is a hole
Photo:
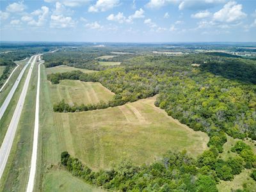
[[[93,172],[68,152],[62,152],[61,164],[68,172],[90,184],[115,191],[218,191],[220,180],[232,180],[244,168],[256,168],[252,148],[238,141],[232,151],[239,154],[223,161],[218,149],[211,147],[193,159],[186,151],[168,152],[149,165],[134,166],[124,159],[111,170]],[[255,172],[251,177],[255,179]]]

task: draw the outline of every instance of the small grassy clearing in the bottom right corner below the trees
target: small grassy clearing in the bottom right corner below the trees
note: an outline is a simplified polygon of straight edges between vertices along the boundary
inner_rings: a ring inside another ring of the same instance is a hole
[[[243,170],[242,173],[236,175],[232,181],[221,180],[217,188],[220,192],[231,192],[237,189],[246,189],[246,191],[255,192],[256,182],[250,177],[252,170]]]

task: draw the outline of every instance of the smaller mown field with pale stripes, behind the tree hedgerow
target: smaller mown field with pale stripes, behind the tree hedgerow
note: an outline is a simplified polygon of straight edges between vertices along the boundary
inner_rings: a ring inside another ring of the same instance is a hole
[[[60,84],[49,82],[52,103],[60,102],[62,99],[69,104],[90,104],[100,100],[108,102],[115,93],[110,92],[100,83],[63,80]]]

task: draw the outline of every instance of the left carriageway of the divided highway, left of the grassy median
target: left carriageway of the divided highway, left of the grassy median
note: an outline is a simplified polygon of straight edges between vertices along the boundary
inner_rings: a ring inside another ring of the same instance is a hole
[[[17,77],[17,81],[15,81],[15,83],[12,86],[12,89],[8,93],[6,99],[4,100],[4,102],[3,102],[3,104],[2,104],[2,106],[0,108],[0,120],[3,117],[4,112],[6,111],[6,108],[8,107],[8,105],[9,105],[9,103],[10,103],[12,97],[13,97],[13,94],[15,93],[15,91],[16,91],[19,83],[20,83],[20,79],[22,78],[22,76],[23,76],[26,68],[28,67],[29,63],[31,62],[32,58],[33,58],[33,56],[29,59],[28,63],[22,68],[19,76]]]

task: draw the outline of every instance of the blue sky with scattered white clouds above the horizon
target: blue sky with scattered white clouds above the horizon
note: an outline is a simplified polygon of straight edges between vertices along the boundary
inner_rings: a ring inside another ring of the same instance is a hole
[[[256,0],[0,0],[1,41],[256,42]]]

